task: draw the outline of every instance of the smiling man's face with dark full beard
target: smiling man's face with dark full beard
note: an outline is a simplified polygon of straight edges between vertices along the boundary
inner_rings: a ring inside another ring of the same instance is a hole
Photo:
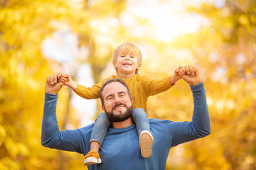
[[[122,122],[132,116],[132,98],[121,83],[114,81],[102,91],[102,109],[112,122]]]

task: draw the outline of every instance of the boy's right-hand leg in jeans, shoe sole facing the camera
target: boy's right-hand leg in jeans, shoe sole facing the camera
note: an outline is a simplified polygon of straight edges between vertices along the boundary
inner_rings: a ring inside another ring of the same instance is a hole
[[[153,136],[150,132],[149,120],[143,108],[135,108],[132,113],[132,120],[136,123],[139,134],[139,147],[142,157],[148,158],[152,154]]]

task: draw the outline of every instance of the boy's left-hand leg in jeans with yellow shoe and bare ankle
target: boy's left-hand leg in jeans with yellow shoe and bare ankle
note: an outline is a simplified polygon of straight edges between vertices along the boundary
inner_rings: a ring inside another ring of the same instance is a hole
[[[92,137],[90,140],[90,152],[85,155],[84,165],[100,164],[100,145],[107,134],[107,128],[110,127],[110,120],[106,113],[100,113],[95,120],[95,125],[92,128]]]

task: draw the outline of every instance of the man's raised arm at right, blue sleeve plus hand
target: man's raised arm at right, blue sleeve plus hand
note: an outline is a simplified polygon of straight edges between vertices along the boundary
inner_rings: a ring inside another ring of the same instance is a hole
[[[193,116],[191,122],[171,123],[170,129],[174,135],[172,147],[210,134],[210,117],[202,78],[196,67],[185,66],[184,70],[182,79],[191,85],[193,93]]]

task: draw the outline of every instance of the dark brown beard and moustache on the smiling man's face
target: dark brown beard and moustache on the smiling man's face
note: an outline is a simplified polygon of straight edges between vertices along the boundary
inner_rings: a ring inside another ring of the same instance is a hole
[[[113,110],[115,107],[120,106],[120,105],[124,105],[127,108],[127,111],[125,111],[124,113],[119,113],[118,115],[115,115]],[[106,111],[106,109],[105,109]],[[128,118],[132,117],[132,106],[128,107],[126,104],[124,103],[119,103],[116,104],[115,106],[113,106],[112,111],[111,112],[107,112],[107,117],[110,119],[110,121],[112,122],[122,122],[124,120],[127,120]]]

